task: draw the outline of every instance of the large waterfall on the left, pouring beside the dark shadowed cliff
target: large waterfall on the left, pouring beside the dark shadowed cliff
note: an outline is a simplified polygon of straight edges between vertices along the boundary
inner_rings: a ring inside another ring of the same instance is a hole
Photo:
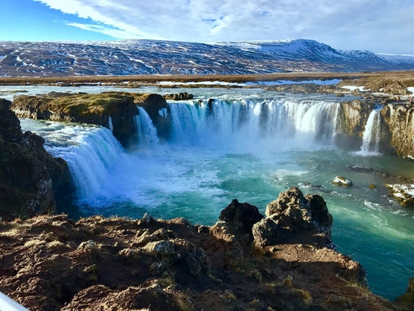
[[[46,150],[68,162],[81,200],[99,193],[108,170],[124,155],[110,129],[100,126],[21,120],[21,127],[41,135],[46,140]]]

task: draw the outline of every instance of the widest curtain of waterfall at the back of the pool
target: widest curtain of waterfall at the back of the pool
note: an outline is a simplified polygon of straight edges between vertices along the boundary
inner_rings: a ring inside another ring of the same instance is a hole
[[[255,142],[257,139],[332,144],[340,127],[335,102],[214,100],[170,102],[175,142]]]

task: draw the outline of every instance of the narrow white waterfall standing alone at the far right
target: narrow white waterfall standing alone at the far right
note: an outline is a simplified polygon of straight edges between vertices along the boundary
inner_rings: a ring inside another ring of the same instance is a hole
[[[380,151],[381,115],[380,111],[371,111],[365,125],[362,137],[361,153],[364,155],[375,155]]]

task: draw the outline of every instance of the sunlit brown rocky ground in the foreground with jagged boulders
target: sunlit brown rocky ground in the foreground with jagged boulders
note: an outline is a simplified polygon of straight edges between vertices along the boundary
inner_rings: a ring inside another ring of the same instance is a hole
[[[323,198],[290,189],[277,202],[286,221],[302,214],[292,220],[301,228],[286,228],[284,240],[266,247],[217,238],[215,226],[148,214],[2,223],[0,291],[33,311],[396,310],[364,287],[359,263],[317,243],[320,234],[309,231],[316,230],[313,222],[332,222]],[[263,223],[268,237],[278,226],[235,200],[220,218],[239,234],[250,232],[256,219],[253,232]]]

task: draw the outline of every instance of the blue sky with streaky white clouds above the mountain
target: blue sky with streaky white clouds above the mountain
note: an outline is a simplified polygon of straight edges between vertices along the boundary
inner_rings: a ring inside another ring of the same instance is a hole
[[[0,0],[0,40],[315,39],[414,54],[413,0]]]

